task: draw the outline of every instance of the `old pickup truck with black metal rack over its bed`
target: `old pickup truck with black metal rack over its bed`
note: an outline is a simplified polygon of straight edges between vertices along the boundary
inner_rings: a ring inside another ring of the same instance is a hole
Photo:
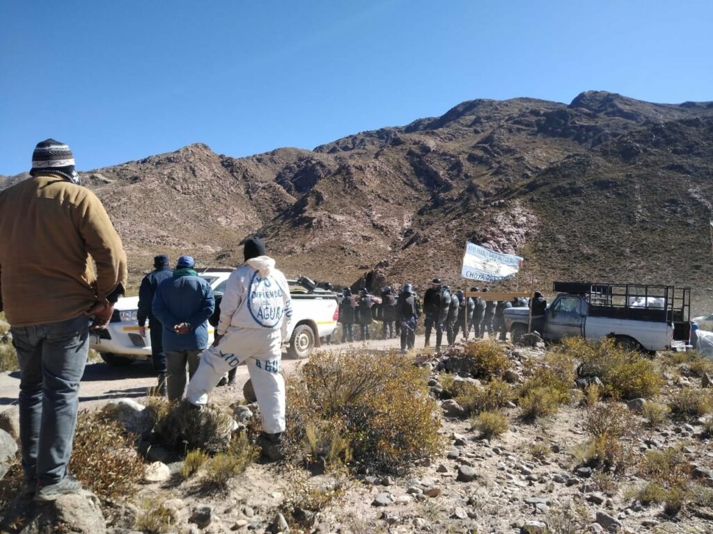
[[[612,337],[618,344],[654,352],[670,350],[674,341],[688,342],[691,290],[588,282],[555,282],[562,292],[544,315],[532,319],[545,340],[580,336]],[[529,308],[503,310],[513,343],[528,332]]]

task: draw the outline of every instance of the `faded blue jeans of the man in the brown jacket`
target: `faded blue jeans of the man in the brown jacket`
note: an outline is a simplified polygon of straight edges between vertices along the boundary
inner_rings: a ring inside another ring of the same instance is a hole
[[[89,352],[89,319],[13,327],[20,364],[20,444],[26,479],[41,486],[67,474]]]

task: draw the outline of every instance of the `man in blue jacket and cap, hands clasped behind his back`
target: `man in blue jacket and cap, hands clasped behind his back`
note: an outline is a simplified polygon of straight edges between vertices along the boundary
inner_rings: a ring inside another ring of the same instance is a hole
[[[168,370],[168,400],[180,400],[185,368],[193,377],[200,353],[208,346],[207,320],[215,308],[213,291],[193,270],[190,256],[178,258],[173,276],[161,282],[153,297],[153,315],[163,325],[163,349]]]

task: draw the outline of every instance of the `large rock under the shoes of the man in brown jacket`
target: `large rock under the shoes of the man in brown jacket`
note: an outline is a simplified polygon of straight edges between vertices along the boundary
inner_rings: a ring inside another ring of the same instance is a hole
[[[48,503],[13,501],[0,523],[9,534],[105,534],[99,499],[89,491],[58,496]]]

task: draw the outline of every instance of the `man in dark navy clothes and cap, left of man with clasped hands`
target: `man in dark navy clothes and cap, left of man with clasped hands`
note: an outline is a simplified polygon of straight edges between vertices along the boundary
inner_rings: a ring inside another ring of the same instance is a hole
[[[153,258],[153,271],[143,277],[138,290],[138,333],[146,337],[146,320],[148,319],[149,335],[151,340],[151,362],[153,370],[158,373],[158,392],[165,397],[166,394],[166,354],[163,352],[163,332],[161,323],[151,313],[153,295],[158,284],[173,276],[173,269],[168,263],[168,256],[159,254]]]

